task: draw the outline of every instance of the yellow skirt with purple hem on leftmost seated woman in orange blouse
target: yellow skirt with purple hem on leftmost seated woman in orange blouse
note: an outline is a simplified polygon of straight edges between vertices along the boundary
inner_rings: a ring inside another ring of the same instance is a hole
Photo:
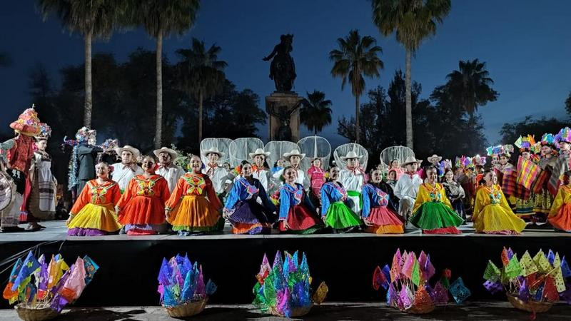
[[[113,204],[87,204],[67,224],[67,235],[99,236],[121,229]]]

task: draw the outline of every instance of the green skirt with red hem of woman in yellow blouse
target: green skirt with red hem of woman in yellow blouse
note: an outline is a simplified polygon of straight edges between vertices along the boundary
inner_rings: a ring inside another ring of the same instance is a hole
[[[441,202],[426,202],[413,213],[410,223],[426,234],[460,234],[456,227],[464,220]]]

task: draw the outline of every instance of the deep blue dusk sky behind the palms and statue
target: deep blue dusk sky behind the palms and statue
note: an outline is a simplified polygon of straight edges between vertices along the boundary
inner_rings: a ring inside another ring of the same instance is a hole
[[[423,41],[413,59],[413,80],[422,84],[426,98],[435,86],[445,83],[459,60],[485,61],[495,81],[493,88],[500,93],[497,101],[480,108],[490,143],[500,138],[503,123],[528,115],[566,117],[564,101],[571,90],[570,16],[571,1],[455,0],[437,34]],[[330,76],[328,52],[350,29],[375,37],[383,48],[385,69],[380,78],[367,79],[367,88],[388,86],[395,70],[404,70],[405,51],[394,35],[380,36],[371,22],[370,1],[364,0],[202,1],[193,29],[166,39],[163,53],[176,61],[174,52],[190,46],[191,37],[208,46],[216,42],[222,48],[220,58],[228,62],[227,78],[239,89],[258,93],[264,108],[264,96],[273,91],[273,82],[268,78],[269,63],[261,58],[281,34],[294,34],[292,56],[298,73],[294,91],[305,95],[317,89],[333,101],[333,123],[321,135],[336,145],[344,141],[336,134],[337,120],[353,113],[354,98],[350,88],[341,91],[340,78]],[[7,132],[9,122],[32,103],[27,93],[30,68],[44,63],[57,84],[60,68],[83,62],[84,46],[81,36],[70,36],[55,17],[42,21],[31,0],[4,5],[0,40],[0,51],[12,60],[11,66],[0,68],[0,131]],[[125,61],[138,47],[155,49],[155,42],[142,29],[116,32],[108,42],[96,41],[93,53],[111,52],[118,61]],[[95,103],[94,108],[104,108]],[[258,130],[263,138],[267,132],[266,126]],[[303,133],[308,131],[303,128]]]

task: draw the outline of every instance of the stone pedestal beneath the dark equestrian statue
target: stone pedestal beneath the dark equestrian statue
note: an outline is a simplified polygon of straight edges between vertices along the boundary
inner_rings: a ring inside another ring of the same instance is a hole
[[[280,118],[289,116],[289,127],[291,130],[291,141],[299,141],[299,108],[303,98],[294,92],[278,93],[274,92],[266,96],[266,112],[270,116],[268,121],[268,137],[270,141],[281,140],[278,137],[278,130],[281,126]]]

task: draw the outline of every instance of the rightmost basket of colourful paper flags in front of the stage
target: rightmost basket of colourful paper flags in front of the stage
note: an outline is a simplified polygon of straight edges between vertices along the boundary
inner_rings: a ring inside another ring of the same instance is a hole
[[[518,260],[511,248],[502,250],[502,265],[488,261],[484,272],[485,288],[492,294],[505,289],[512,305],[529,312],[545,312],[554,302],[571,304],[571,285],[566,281],[571,270],[565,256],[542,250],[532,257],[525,251]]]

